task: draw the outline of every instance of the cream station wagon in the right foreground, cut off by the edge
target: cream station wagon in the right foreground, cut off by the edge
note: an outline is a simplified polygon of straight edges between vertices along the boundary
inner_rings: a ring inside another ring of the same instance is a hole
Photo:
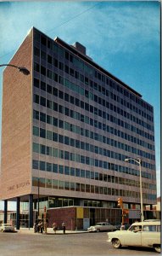
[[[128,230],[108,233],[108,241],[113,247],[154,247],[160,253],[160,221],[143,221],[131,224]]]

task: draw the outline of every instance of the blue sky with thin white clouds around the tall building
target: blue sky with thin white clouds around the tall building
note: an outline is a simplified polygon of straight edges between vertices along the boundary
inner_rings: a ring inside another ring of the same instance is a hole
[[[59,37],[68,44],[80,42],[94,62],[137,90],[143,100],[154,106],[159,196],[159,1],[0,2],[0,64],[10,61],[32,26],[50,38]],[[1,67],[0,124],[2,84]],[[13,207],[13,203],[8,205],[8,209],[13,210]],[[3,209],[3,202],[0,202],[0,209]]]

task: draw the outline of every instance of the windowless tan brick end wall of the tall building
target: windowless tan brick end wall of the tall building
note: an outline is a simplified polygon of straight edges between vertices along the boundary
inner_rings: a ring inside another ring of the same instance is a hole
[[[31,72],[32,31],[10,64]],[[3,72],[2,161],[0,199],[31,191],[31,74],[14,67]]]

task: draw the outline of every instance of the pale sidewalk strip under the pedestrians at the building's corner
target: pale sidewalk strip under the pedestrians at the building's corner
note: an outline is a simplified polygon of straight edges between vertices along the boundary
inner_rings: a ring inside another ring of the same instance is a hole
[[[37,234],[37,235],[64,235],[63,230],[57,230],[56,234],[53,231],[53,228],[47,228],[47,234],[43,233],[34,233],[33,228],[20,228],[20,230],[17,230],[18,233],[22,234]],[[81,233],[87,233],[87,230],[66,230],[65,235],[67,234],[81,234]]]

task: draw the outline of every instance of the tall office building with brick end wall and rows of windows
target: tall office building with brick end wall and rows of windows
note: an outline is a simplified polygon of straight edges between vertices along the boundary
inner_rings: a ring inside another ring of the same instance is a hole
[[[120,221],[119,197],[130,212],[140,209],[139,165],[126,158],[142,160],[144,209],[156,203],[154,108],[136,90],[92,61],[80,43],[36,28],[10,64],[31,75],[3,72],[5,211],[16,200],[19,221],[20,202],[29,201],[30,226],[33,210],[44,206],[50,218],[76,207],[90,224]]]

